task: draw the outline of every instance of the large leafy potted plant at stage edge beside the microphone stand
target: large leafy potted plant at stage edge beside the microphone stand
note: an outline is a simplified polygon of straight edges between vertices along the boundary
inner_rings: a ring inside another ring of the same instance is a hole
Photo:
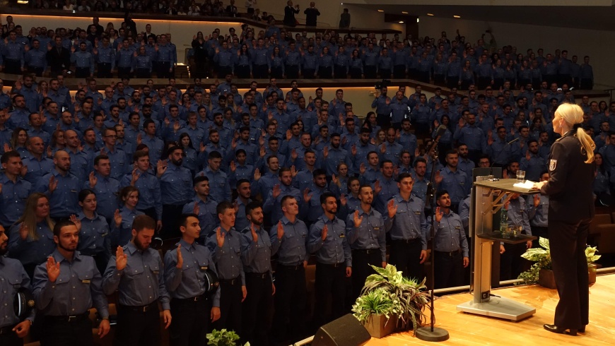
[[[365,280],[361,296],[352,311],[370,335],[382,338],[395,328],[416,331],[425,321],[423,311],[429,303],[425,279],[420,283],[404,278],[390,264],[387,268],[372,266],[376,274]],[[393,321],[389,321],[393,319]]]

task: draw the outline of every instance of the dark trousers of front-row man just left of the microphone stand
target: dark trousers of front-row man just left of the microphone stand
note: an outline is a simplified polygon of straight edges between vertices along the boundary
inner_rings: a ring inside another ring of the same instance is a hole
[[[422,249],[421,238],[392,240],[389,263],[396,266],[397,270],[402,270],[406,278],[414,278],[421,282],[425,278],[421,264]]]

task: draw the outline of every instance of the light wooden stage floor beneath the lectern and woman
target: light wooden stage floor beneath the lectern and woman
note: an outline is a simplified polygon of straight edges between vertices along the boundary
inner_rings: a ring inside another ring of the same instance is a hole
[[[549,333],[542,328],[544,323],[553,323],[558,302],[556,290],[535,285],[491,292],[533,306],[536,314],[520,322],[466,314],[457,311],[457,305],[469,302],[472,295],[452,294],[435,301],[435,326],[447,330],[449,340],[432,344],[405,332],[372,338],[366,345],[615,345],[615,275],[598,276],[590,287],[590,324],[586,333],[578,336]]]

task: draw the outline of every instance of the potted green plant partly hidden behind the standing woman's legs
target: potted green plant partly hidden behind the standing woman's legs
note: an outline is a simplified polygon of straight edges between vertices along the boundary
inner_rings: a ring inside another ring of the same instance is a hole
[[[522,284],[532,285],[539,284],[542,287],[555,289],[555,277],[553,268],[551,267],[551,251],[549,250],[549,239],[540,238],[538,243],[541,247],[527,249],[521,257],[534,261],[529,270],[521,273],[518,279],[523,280]],[[587,275],[589,275],[590,284],[596,282],[596,265],[600,255],[596,255],[597,249],[592,246],[585,248],[585,258],[587,258]]]

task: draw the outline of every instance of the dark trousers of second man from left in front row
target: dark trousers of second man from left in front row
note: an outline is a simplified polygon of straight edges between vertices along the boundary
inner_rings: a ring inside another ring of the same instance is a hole
[[[89,314],[88,311],[77,316],[44,316],[42,318],[40,345],[92,345],[92,322],[88,318]]]

